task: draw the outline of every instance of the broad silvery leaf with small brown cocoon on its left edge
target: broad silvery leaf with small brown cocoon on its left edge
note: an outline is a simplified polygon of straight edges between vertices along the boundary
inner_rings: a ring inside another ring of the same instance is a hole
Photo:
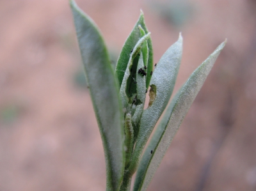
[[[180,35],[179,40],[166,50],[153,72],[149,93],[151,102],[150,106],[143,111],[141,116],[140,131],[132,155],[132,162],[129,166],[129,173],[131,175],[136,171],[148,137],[170,100],[179,71],[181,56],[182,36]],[[150,75],[150,73],[147,73],[147,75]]]

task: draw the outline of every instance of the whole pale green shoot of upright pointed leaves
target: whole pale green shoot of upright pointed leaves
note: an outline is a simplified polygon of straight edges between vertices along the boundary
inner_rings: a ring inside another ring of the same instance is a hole
[[[132,175],[137,170],[134,191],[146,190],[225,42],[192,73],[168,105],[182,57],[182,36],[166,50],[153,71],[152,41],[141,11],[114,74],[99,29],[74,1],[70,1],[70,6],[104,147],[106,190],[130,190]],[[149,86],[150,102],[143,109]]]

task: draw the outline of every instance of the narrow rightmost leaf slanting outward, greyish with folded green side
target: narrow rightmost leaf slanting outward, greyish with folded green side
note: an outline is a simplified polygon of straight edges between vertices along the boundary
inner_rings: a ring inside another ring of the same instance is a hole
[[[186,116],[225,43],[221,43],[204,63],[198,66],[168,106],[161,123],[157,126],[156,132],[150,140],[147,149],[145,149],[136,174],[134,191],[147,189],[166,150],[179,129],[180,123]]]

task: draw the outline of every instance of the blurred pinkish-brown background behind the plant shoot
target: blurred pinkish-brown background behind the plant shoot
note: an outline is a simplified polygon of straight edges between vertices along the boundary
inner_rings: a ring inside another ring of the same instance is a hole
[[[256,190],[256,1],[77,0],[116,61],[140,15],[154,63],[182,31],[175,91],[228,38],[148,190]],[[0,1],[0,190],[104,190],[68,1]]]

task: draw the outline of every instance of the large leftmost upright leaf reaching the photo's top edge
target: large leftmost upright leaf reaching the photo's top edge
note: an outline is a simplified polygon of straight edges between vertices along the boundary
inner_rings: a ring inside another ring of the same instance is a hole
[[[124,174],[124,119],[106,45],[92,19],[70,1],[86,82],[99,125],[106,158],[107,190],[119,190]]]

